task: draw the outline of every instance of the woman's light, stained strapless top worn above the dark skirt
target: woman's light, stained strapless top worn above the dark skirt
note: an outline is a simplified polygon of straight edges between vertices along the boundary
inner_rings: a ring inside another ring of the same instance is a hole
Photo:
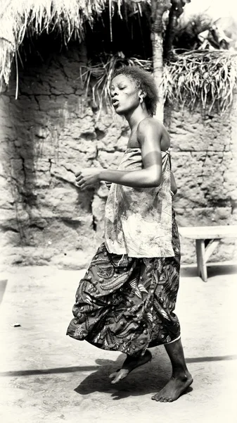
[[[121,171],[143,168],[141,148],[127,148]],[[155,188],[112,183],[105,205],[105,246],[129,257],[173,257],[170,151],[162,152],[162,181]]]

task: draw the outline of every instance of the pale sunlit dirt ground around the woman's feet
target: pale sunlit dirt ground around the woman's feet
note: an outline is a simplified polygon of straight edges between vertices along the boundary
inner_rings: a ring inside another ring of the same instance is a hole
[[[164,347],[114,386],[124,355],[65,336],[84,271],[51,266],[0,273],[2,423],[210,423],[237,421],[236,266],[181,270],[176,312],[194,382],[174,403],[150,398],[168,381]],[[20,324],[20,326],[14,326]]]

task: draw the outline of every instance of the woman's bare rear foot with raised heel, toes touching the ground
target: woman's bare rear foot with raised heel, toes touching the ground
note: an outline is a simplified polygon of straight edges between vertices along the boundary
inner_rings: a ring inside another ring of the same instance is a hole
[[[132,357],[132,355],[127,355],[126,360],[122,364],[122,369],[119,369],[117,372],[110,374],[110,379],[113,379],[111,384],[117,384],[117,382],[122,381],[124,377],[132,372],[132,370],[136,369],[136,367],[146,364],[151,359],[152,355],[148,350],[146,350],[144,355],[140,355],[139,357]]]

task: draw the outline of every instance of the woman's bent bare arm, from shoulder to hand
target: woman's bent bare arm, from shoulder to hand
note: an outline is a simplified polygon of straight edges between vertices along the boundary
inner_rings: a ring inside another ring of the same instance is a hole
[[[143,169],[139,171],[113,171],[110,169],[84,168],[75,174],[77,185],[84,189],[101,180],[132,188],[150,188],[160,185],[162,175],[161,135],[162,126],[158,121],[153,118],[144,119],[137,128],[137,140],[141,145]]]

